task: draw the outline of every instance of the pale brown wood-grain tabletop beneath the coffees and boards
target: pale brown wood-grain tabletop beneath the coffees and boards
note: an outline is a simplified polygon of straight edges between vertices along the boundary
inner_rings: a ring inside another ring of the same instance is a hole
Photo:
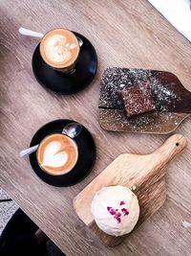
[[[38,39],[18,34],[20,26],[45,33],[66,27],[87,36],[96,47],[96,79],[73,96],[54,95],[32,74]],[[99,81],[108,66],[173,72],[191,90],[191,44],[146,0],[0,1],[0,186],[67,255],[191,255],[191,119],[178,132],[188,148],[167,175],[167,199],[159,212],[115,248],[106,247],[74,214],[73,198],[121,152],[148,153],[167,138],[108,132],[98,125]],[[36,129],[69,118],[89,128],[96,140],[96,165],[86,179],[56,188],[36,176],[28,158]]]

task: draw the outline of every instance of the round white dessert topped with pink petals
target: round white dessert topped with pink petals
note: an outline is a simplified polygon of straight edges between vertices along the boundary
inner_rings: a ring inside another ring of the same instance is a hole
[[[93,198],[92,213],[102,231],[122,236],[130,233],[138,222],[138,198],[124,186],[104,187]]]

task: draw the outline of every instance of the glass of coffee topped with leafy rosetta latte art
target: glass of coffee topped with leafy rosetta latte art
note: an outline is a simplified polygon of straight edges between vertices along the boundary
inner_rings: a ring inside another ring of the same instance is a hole
[[[74,70],[80,46],[74,33],[65,29],[54,29],[43,36],[40,55],[53,69],[62,73]]]

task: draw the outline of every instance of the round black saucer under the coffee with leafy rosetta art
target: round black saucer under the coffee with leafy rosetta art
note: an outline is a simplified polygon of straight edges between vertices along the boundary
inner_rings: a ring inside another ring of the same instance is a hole
[[[75,71],[71,75],[61,74],[45,63],[40,56],[39,44],[32,57],[32,70],[36,80],[53,92],[60,94],[73,94],[80,91],[93,81],[96,75],[96,50],[92,43],[83,35],[74,32],[80,37],[83,45],[77,59]]]

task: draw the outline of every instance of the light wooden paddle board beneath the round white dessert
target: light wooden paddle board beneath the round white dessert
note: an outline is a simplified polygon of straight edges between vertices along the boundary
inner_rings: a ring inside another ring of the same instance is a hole
[[[106,245],[116,246],[124,237],[113,237],[101,231],[91,212],[92,200],[98,190],[105,186],[122,185],[136,187],[140,216],[136,228],[156,213],[166,198],[165,174],[167,164],[187,145],[180,134],[168,138],[151,154],[120,154],[100,175],[74,198],[74,210],[99,239]]]

